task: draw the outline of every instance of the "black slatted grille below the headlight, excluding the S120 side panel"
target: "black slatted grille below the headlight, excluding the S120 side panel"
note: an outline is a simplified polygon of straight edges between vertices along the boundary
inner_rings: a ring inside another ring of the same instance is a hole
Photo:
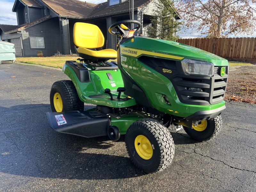
[[[221,67],[214,67],[213,77],[174,77],[172,82],[180,101],[193,105],[209,105],[222,101],[227,86],[228,66],[224,76],[220,76],[220,69]]]

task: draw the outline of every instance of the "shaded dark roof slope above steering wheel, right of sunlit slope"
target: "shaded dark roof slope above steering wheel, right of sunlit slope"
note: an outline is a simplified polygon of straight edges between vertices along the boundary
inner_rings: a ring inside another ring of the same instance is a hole
[[[133,7],[134,7],[134,9],[141,8],[145,5],[147,5],[148,3],[150,3],[151,1],[153,1],[153,0],[135,0]],[[104,3],[98,4],[95,7],[90,18],[102,17],[102,16],[106,16],[106,15],[114,15],[114,14],[123,13],[123,12],[129,12],[129,10],[130,10],[130,8],[129,8],[128,0],[124,1],[121,4],[116,4],[116,5],[112,5],[112,6],[108,6],[108,2],[104,2]]]

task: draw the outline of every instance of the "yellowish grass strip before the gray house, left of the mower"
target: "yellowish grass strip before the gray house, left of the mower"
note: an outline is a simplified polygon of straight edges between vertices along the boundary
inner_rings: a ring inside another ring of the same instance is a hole
[[[44,65],[48,67],[63,68],[67,60],[76,60],[77,56],[64,56],[64,57],[18,57],[17,62],[31,63],[36,65]]]

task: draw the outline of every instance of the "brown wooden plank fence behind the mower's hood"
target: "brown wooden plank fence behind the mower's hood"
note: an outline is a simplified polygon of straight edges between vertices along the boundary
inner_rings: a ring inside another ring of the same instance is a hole
[[[255,37],[178,39],[178,42],[203,49],[228,60],[256,63]]]

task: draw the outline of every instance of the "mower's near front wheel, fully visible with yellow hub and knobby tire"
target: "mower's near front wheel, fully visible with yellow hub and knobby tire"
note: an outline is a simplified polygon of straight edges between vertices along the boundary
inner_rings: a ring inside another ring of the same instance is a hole
[[[134,122],[126,132],[125,144],[133,164],[144,172],[162,171],[174,157],[170,132],[154,119]]]

